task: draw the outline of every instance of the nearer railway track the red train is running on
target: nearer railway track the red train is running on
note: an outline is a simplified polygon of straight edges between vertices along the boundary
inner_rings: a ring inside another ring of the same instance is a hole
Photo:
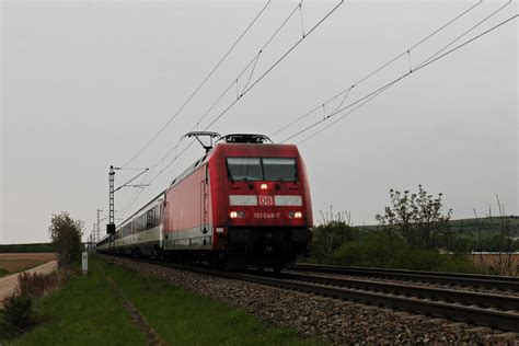
[[[218,272],[154,260],[134,260],[519,333],[519,298],[512,296],[290,272],[284,272],[279,276],[269,272]]]

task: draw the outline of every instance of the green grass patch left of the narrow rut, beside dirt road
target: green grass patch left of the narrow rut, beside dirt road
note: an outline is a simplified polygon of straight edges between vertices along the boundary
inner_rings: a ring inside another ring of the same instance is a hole
[[[96,270],[72,277],[38,308],[48,320],[12,345],[146,345],[146,337]]]

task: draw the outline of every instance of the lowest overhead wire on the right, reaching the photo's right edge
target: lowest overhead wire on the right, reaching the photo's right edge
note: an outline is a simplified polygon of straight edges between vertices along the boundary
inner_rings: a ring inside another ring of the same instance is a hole
[[[400,82],[400,81],[403,80],[404,78],[406,78],[406,77],[408,77],[408,76],[411,76],[411,74],[415,74],[415,72],[422,70],[423,68],[425,68],[425,67],[427,67],[427,66],[430,66],[431,64],[434,64],[434,62],[436,62],[436,61],[442,59],[443,57],[446,57],[446,56],[448,56],[448,55],[454,53],[455,50],[458,50],[458,49],[464,47],[465,45],[468,45],[468,44],[470,44],[470,43],[472,43],[472,42],[474,42],[474,41],[476,41],[476,39],[478,39],[478,38],[481,38],[481,37],[487,35],[488,33],[495,31],[496,28],[498,28],[498,27],[505,25],[506,23],[508,23],[508,22],[510,22],[510,21],[517,19],[517,16],[518,16],[518,14],[512,15],[512,16],[508,18],[507,20],[503,21],[503,22],[499,22],[498,24],[492,26],[491,28],[484,31],[483,33],[481,33],[481,34],[478,34],[478,35],[476,35],[476,36],[474,36],[474,37],[472,37],[472,38],[470,38],[470,39],[463,42],[462,44],[460,44],[460,45],[458,45],[458,46],[455,46],[455,47],[449,49],[448,51],[446,51],[446,53],[443,53],[443,54],[441,54],[441,55],[439,55],[439,56],[435,54],[435,57],[434,57],[434,58],[430,58],[430,57],[427,58],[427,59],[424,60],[422,64],[419,64],[418,67],[416,67],[413,71],[408,71],[408,72],[402,74],[401,77],[394,79],[394,80],[391,81],[390,83],[384,84],[383,86],[377,89],[376,91],[369,93],[368,95],[366,95],[366,96],[364,96],[364,97],[361,97],[361,99],[355,101],[354,103],[351,103],[351,104],[349,104],[349,105],[347,105],[347,106],[345,106],[345,107],[338,109],[338,111],[335,112],[334,114],[331,114],[331,115],[328,115],[327,117],[325,117],[325,118],[323,118],[323,119],[320,119],[320,120],[318,120],[318,122],[311,124],[310,126],[303,128],[302,130],[299,130],[297,134],[295,134],[295,135],[292,135],[292,136],[290,136],[290,137],[288,137],[288,138],[285,138],[281,142],[286,142],[286,141],[288,141],[288,140],[290,140],[290,139],[292,139],[292,138],[295,138],[295,137],[297,137],[297,136],[299,136],[299,135],[301,135],[301,134],[303,134],[303,132],[310,130],[311,128],[318,126],[319,124],[322,124],[323,122],[326,122],[326,120],[330,119],[332,116],[335,116],[335,115],[337,115],[337,114],[344,112],[345,109],[351,107],[353,105],[360,103],[359,106],[355,107],[353,111],[350,111],[350,112],[348,112],[348,113],[346,113],[346,114],[341,115],[335,122],[333,122],[333,123],[331,123],[328,126],[326,126],[326,127],[324,127],[324,128],[318,130],[318,131],[314,132],[312,136],[305,138],[305,139],[302,140],[301,142],[308,141],[309,139],[313,138],[313,137],[316,136],[318,134],[321,134],[321,132],[324,131],[325,129],[330,128],[332,125],[334,125],[334,124],[337,123],[338,120],[343,119],[343,118],[344,118],[345,116],[347,116],[348,114],[350,114],[350,113],[353,113],[354,111],[358,109],[361,105],[364,105],[364,104],[366,104],[367,102],[371,101],[372,99],[377,97],[377,96],[380,95],[383,91],[385,91],[385,90],[389,89],[390,86],[396,84],[397,82]],[[471,31],[472,31],[472,30],[473,30],[473,28],[471,28]],[[465,33],[463,33],[462,35],[465,35]],[[365,100],[366,100],[366,102],[364,102]],[[301,142],[299,142],[299,143],[301,143]]]

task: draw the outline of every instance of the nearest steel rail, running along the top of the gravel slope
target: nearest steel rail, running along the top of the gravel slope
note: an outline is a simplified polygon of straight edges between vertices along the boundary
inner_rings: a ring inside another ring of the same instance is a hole
[[[484,325],[504,331],[511,331],[516,333],[519,332],[519,312],[517,311],[498,311],[492,308],[488,309],[478,308],[474,305],[464,305],[459,302],[449,303],[445,301],[434,301],[431,299],[422,299],[418,297],[405,297],[403,295],[387,293],[382,291],[377,292],[369,291],[366,289],[330,286],[330,284],[322,285],[300,280],[298,281],[293,279],[296,278],[295,276],[291,277],[292,279],[290,279],[290,276],[288,276],[288,278],[276,278],[266,276],[265,273],[262,275],[251,275],[244,273],[220,272],[203,267],[183,266],[149,258],[127,258],[182,270],[207,274],[210,276],[221,277],[226,279],[235,279],[247,282],[262,284],[295,291],[332,297],[342,300],[362,302],[377,307],[385,307],[395,310],[410,311],[429,316],[445,318],[450,319],[452,321],[460,321],[470,324]],[[380,284],[384,285],[388,282]],[[397,286],[396,284],[394,285]],[[475,296],[471,295],[471,297]]]

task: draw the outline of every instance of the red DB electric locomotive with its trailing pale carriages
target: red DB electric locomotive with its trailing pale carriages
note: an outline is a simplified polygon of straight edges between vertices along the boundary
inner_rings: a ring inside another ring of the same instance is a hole
[[[206,148],[117,228],[115,252],[274,269],[307,255],[313,218],[304,163],[296,146],[267,141],[228,135]],[[97,249],[107,251],[108,242]]]

